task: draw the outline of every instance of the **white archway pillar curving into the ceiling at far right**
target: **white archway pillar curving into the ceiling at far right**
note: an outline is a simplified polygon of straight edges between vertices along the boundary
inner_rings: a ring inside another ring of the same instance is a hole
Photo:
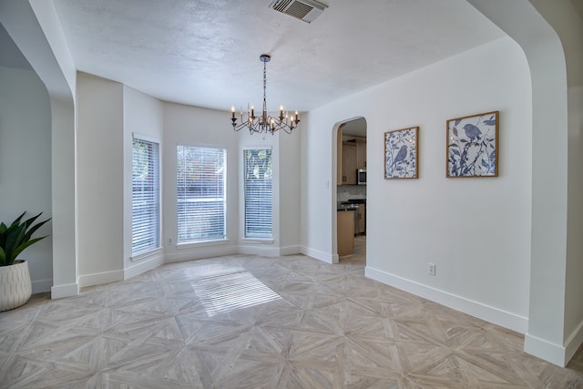
[[[570,233],[573,234],[582,219],[580,189],[578,196],[568,193],[568,188],[581,186],[581,179],[568,175],[571,163],[568,150],[571,155],[580,153],[580,148],[569,145],[569,134],[580,132],[580,107],[576,108],[568,97],[578,98],[579,102],[581,97],[580,93],[577,96],[568,93],[568,81],[580,79],[583,74],[578,62],[583,40],[581,18],[568,1],[553,5],[538,0],[496,5],[487,0],[468,2],[512,37],[527,56],[532,83],[533,158],[530,302],[525,351],[565,366],[583,342],[583,312],[578,308],[581,290],[569,288],[568,274],[572,271],[567,271],[568,226],[572,226]],[[557,34],[559,31],[562,36]],[[566,50],[571,51],[570,64],[566,64],[569,57]],[[578,115],[572,112],[574,108]],[[568,116],[575,119],[569,123]],[[549,136],[552,142],[548,142]],[[541,155],[554,157],[541,159]],[[568,211],[571,209],[579,211]],[[581,248],[570,247],[575,250],[569,256],[580,258]],[[570,262],[573,268],[582,270],[580,260]]]

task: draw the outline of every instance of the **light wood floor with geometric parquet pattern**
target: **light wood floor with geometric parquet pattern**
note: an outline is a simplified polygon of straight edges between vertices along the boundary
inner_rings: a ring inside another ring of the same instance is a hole
[[[360,242],[360,243],[359,243]],[[0,313],[3,388],[576,388],[524,337],[364,278],[363,239],[168,264]]]

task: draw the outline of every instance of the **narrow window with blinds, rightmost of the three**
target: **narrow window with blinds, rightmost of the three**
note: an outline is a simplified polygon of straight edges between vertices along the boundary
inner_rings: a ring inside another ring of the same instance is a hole
[[[243,150],[245,238],[271,238],[271,148]]]

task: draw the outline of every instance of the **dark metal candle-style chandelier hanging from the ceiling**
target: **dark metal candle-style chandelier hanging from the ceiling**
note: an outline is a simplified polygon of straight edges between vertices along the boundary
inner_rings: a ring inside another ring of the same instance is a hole
[[[230,118],[233,129],[235,131],[240,131],[242,128],[249,129],[249,133],[252,135],[253,133],[257,132],[260,133],[268,133],[270,132],[271,135],[280,129],[284,130],[288,134],[292,133],[293,128],[298,127],[298,123],[300,123],[300,118],[298,118],[298,111],[295,111],[295,115],[289,115],[287,112],[283,111],[283,106],[280,106],[280,116],[279,117],[271,117],[267,114],[267,102],[265,99],[265,89],[267,85],[267,72],[266,72],[266,64],[270,62],[271,56],[269,54],[261,54],[259,57],[261,62],[263,63],[263,111],[261,112],[260,117],[255,116],[255,109],[251,106],[251,110],[249,109],[249,105],[247,107],[247,118],[243,119],[243,110],[241,108],[240,111],[240,124],[237,124],[237,117],[235,114],[235,107],[230,108],[230,112],[232,117]]]

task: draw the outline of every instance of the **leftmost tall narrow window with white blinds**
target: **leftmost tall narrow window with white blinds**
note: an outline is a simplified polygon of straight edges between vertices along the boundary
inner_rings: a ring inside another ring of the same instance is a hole
[[[159,143],[134,136],[131,174],[131,253],[159,248]]]

